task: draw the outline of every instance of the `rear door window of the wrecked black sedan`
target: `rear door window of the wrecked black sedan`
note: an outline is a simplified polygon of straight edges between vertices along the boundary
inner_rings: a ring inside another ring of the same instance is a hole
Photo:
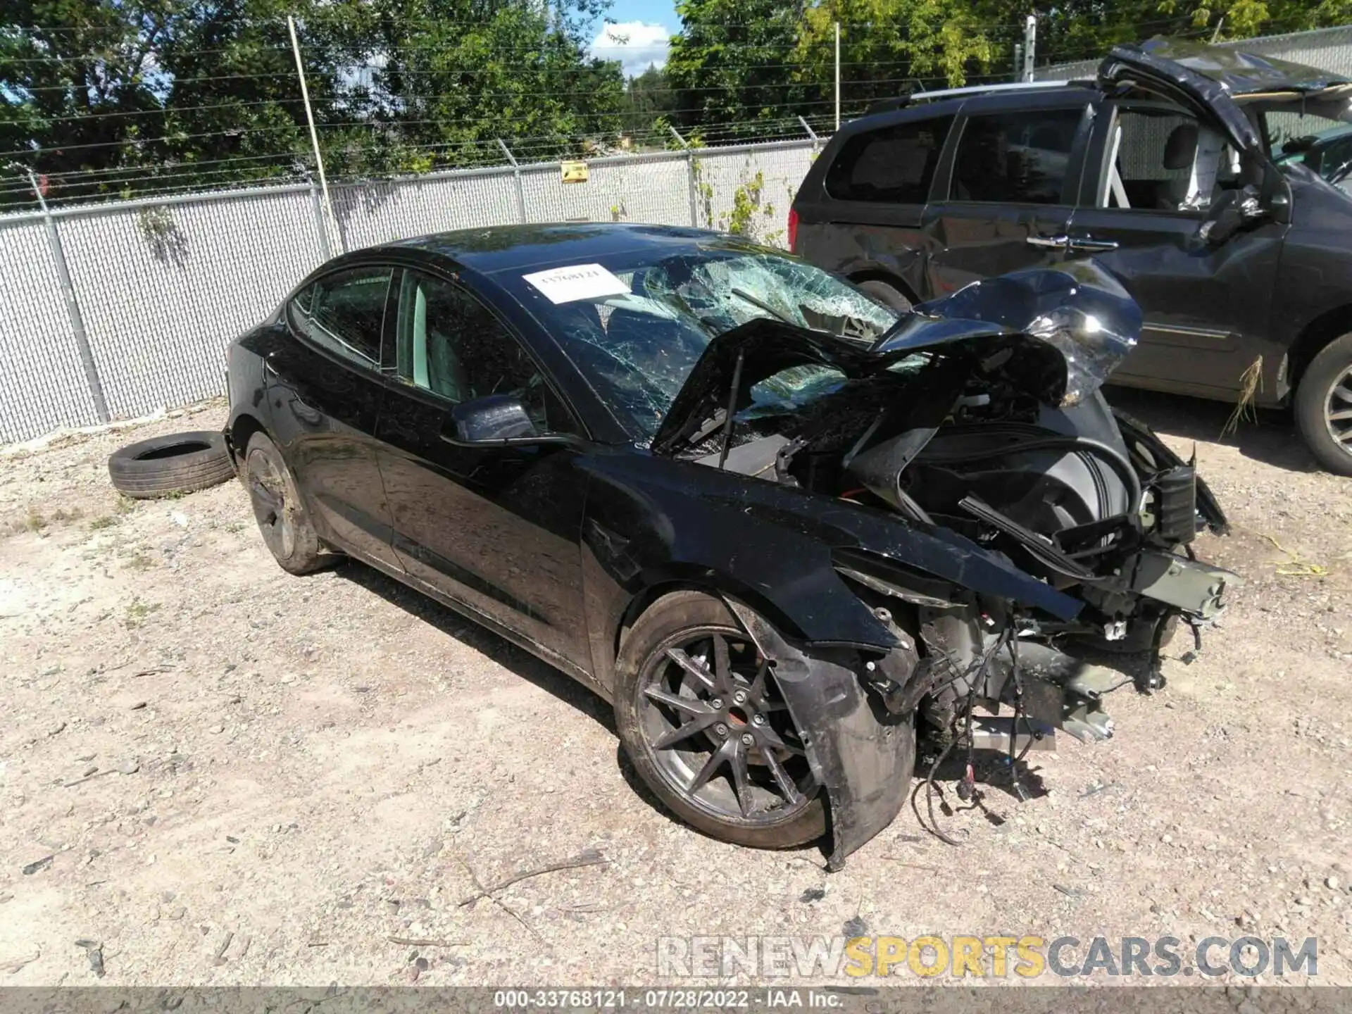
[[[379,366],[389,276],[389,268],[329,274],[291,300],[291,323],[316,345]]]

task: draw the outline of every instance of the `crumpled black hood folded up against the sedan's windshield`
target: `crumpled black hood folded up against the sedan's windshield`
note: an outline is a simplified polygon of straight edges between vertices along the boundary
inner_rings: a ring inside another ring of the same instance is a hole
[[[1069,406],[1103,385],[1140,331],[1140,308],[1092,261],[973,283],[915,307],[872,346],[756,318],[708,343],[662,418],[652,449],[671,454],[685,446],[726,410],[734,377],[740,411],[752,403],[756,384],[792,366],[826,365],[856,379],[921,350],[965,356],[973,372],[999,370],[1046,404]]]

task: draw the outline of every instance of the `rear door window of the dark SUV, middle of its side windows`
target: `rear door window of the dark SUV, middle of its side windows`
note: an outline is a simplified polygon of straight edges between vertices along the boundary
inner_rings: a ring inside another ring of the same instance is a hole
[[[953,158],[950,200],[1065,204],[1061,192],[1084,111],[971,116]]]

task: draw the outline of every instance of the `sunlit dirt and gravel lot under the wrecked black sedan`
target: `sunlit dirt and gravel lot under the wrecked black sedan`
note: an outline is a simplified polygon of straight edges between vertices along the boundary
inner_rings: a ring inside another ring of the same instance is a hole
[[[238,483],[114,493],[111,450],[222,406],[0,457],[0,984],[641,983],[664,934],[999,930],[1315,936],[1352,983],[1352,480],[1282,416],[1218,443],[1222,407],[1117,397],[1198,441],[1224,626],[1114,740],[1032,754],[1045,795],[941,817],[963,848],[907,811],[834,875],[671,821],[603,702],[472,623],[283,573]]]

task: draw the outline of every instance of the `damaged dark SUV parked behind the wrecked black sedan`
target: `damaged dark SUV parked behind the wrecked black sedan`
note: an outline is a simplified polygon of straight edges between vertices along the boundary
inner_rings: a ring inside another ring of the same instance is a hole
[[[1286,406],[1352,476],[1352,78],[1118,46],[1096,80],[929,92],[842,127],[794,249],[894,307],[1094,257],[1141,307],[1114,384]]]

